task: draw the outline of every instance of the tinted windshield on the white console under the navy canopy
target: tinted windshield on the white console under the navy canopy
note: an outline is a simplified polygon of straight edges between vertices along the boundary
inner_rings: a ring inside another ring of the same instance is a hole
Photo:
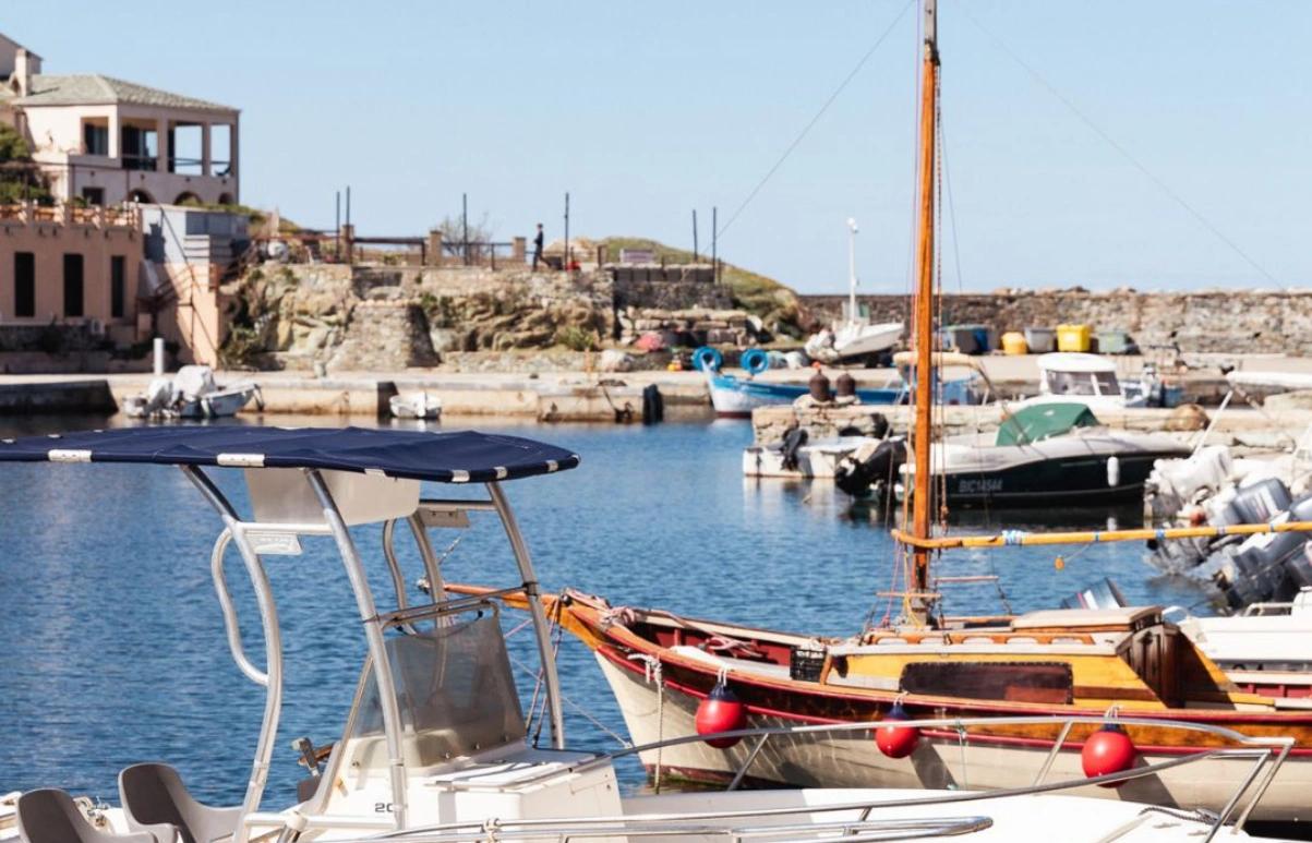
[[[523,709],[493,612],[388,638],[405,764],[433,767],[525,737]],[[352,738],[370,743],[354,759],[386,767],[383,715],[373,667]],[[367,756],[367,758],[366,758]]]

